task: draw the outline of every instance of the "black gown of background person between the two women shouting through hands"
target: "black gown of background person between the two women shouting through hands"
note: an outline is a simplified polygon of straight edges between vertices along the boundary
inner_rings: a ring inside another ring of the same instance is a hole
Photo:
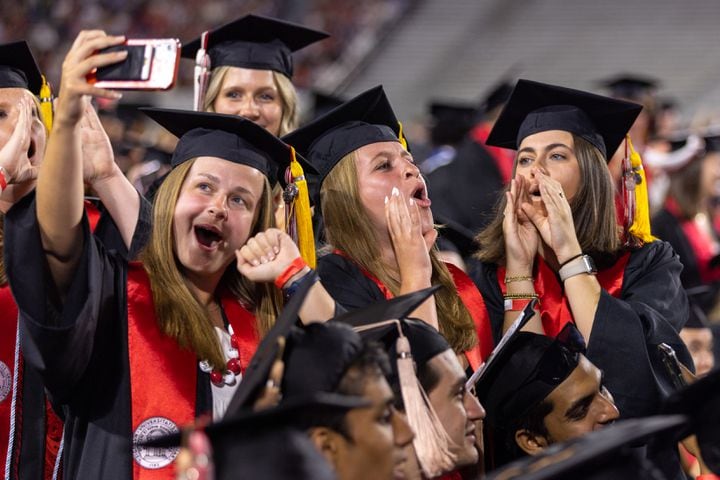
[[[473,234],[494,218],[503,189],[502,177],[490,153],[472,138],[463,140],[452,162],[426,177],[434,214]],[[463,257],[472,253],[467,249],[460,251]]]

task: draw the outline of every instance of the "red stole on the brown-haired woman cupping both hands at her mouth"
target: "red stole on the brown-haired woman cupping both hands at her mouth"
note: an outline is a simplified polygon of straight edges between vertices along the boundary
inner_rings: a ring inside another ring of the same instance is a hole
[[[597,273],[598,283],[600,283],[603,290],[606,290],[613,297],[620,296],[625,266],[629,259],[630,253],[626,252],[610,268]],[[505,295],[507,292],[505,267],[498,267],[497,278],[500,290]],[[535,293],[540,298],[540,318],[542,319],[545,335],[556,337],[568,322],[573,321],[573,317],[562,283],[555,271],[540,256],[537,257],[536,274],[533,283]]]

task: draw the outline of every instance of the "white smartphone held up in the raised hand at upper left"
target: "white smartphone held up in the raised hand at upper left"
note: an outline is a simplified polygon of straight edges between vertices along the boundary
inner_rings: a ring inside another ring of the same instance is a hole
[[[169,90],[180,66],[180,41],[176,38],[128,39],[100,50],[127,50],[125,60],[100,67],[88,75],[88,83],[112,90]]]

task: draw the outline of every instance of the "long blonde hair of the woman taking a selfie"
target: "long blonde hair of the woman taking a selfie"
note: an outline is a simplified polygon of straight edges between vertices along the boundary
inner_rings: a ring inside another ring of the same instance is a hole
[[[207,309],[188,288],[182,265],[175,253],[173,214],[183,182],[195,159],[173,169],[158,188],[153,204],[153,231],[141,254],[150,277],[155,314],[160,329],[183,348],[195,352],[219,368],[225,360]],[[250,236],[273,226],[270,183],[265,179],[263,196]],[[227,287],[257,318],[258,335],[263,336],[275,322],[281,297],[267,283],[253,283],[240,275],[234,263],[225,271],[219,287]],[[219,292],[216,292],[219,293]]]

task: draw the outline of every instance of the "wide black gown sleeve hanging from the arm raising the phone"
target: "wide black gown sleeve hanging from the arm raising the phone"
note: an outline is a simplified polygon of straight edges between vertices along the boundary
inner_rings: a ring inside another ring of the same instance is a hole
[[[25,360],[62,402],[77,388],[90,364],[98,359],[102,362],[103,355],[95,352],[102,349],[97,345],[100,319],[119,323],[114,318],[116,292],[121,288],[115,275],[119,267],[91,235],[85,217],[82,256],[60,305],[40,240],[34,196],[26,197],[8,212],[5,262],[20,311]],[[97,367],[93,365],[93,369]]]

